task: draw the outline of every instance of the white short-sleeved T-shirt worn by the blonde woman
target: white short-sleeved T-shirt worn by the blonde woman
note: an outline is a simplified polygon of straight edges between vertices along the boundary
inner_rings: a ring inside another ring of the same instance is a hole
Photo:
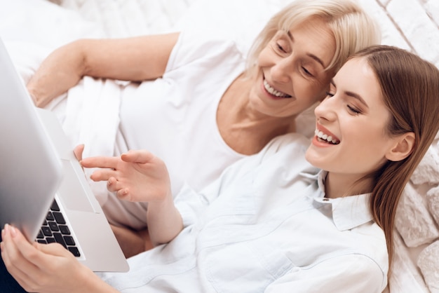
[[[151,151],[166,163],[173,194],[184,183],[201,189],[244,157],[224,142],[216,117],[219,100],[244,71],[245,59],[236,43],[213,37],[182,32],[163,78],[131,84],[122,93],[115,154]],[[147,226],[145,203],[109,196],[102,208],[109,222]]]

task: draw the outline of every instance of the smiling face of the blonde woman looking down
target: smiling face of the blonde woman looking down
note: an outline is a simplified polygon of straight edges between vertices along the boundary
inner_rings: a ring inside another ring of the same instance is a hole
[[[334,74],[325,67],[334,54],[335,40],[323,20],[278,31],[259,54],[259,71],[250,92],[253,109],[289,117],[323,99]]]

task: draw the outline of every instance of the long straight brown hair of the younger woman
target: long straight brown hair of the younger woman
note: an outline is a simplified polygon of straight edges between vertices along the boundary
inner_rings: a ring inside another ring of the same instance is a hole
[[[439,70],[430,62],[393,46],[372,46],[353,57],[367,60],[391,112],[388,135],[415,135],[412,152],[403,161],[387,161],[372,174],[370,210],[386,236],[389,275],[393,258],[396,207],[410,179],[439,130]]]

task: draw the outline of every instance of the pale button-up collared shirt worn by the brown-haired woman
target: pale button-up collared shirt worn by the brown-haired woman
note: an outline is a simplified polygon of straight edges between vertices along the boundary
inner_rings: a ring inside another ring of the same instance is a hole
[[[102,278],[122,292],[382,292],[388,254],[369,194],[324,198],[309,139],[273,139],[176,203],[186,228]]]

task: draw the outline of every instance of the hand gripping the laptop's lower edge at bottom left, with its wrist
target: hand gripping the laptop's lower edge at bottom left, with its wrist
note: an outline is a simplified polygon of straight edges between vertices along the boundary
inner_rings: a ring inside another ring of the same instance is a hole
[[[28,292],[116,292],[58,243],[29,243],[8,224],[1,231],[1,257]]]

